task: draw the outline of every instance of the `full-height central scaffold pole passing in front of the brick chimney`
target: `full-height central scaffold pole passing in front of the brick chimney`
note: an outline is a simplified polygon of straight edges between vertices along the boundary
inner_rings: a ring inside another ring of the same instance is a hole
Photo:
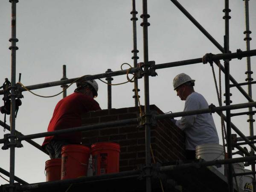
[[[145,96],[145,152],[146,152],[146,191],[151,192],[151,154],[150,154],[150,109],[149,109],[149,78],[148,78],[148,4],[147,0],[143,0],[143,14],[140,15],[143,18],[143,22],[140,24],[143,26],[143,57],[144,57],[144,96]]]

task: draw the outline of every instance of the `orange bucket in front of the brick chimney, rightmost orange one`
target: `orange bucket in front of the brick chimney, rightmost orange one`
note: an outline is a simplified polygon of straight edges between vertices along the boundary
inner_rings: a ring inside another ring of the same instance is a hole
[[[91,145],[93,175],[119,172],[120,145],[102,142]]]

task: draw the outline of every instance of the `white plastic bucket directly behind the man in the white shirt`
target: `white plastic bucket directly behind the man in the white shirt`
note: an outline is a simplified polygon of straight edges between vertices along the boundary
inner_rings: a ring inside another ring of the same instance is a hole
[[[195,158],[204,159],[206,161],[224,159],[224,149],[222,145],[215,143],[207,143],[196,146]],[[219,172],[224,175],[224,165],[221,167],[214,166]]]

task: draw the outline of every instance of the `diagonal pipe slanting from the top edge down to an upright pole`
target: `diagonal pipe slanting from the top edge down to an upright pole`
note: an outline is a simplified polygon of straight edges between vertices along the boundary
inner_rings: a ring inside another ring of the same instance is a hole
[[[207,30],[204,29],[203,26],[200,25],[200,23],[198,23],[197,20],[195,20],[194,17],[192,17],[192,15],[189,14],[189,12],[182,5],[180,5],[177,0],[171,1],[221,52],[224,52],[224,48],[212,37],[212,35],[207,32]]]

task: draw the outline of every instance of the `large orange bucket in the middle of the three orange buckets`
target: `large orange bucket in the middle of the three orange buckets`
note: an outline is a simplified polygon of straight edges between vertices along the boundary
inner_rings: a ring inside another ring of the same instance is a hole
[[[86,176],[89,156],[89,147],[64,145],[61,148],[61,180]]]

